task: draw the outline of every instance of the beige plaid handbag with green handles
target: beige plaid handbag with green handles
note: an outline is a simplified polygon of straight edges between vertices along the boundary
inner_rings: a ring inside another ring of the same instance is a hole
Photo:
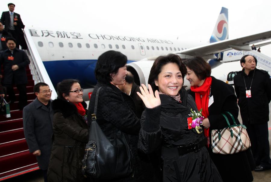
[[[212,130],[212,150],[217,154],[233,154],[247,150],[251,144],[245,125],[236,125],[235,119],[231,113],[228,113],[234,125],[230,125],[225,114],[222,114],[226,119],[228,127],[221,130]]]

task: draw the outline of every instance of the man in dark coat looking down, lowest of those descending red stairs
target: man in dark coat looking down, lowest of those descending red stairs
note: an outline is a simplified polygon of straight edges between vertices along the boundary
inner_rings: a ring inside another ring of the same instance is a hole
[[[7,87],[11,103],[15,101],[13,84],[17,86],[19,90],[19,108],[23,110],[23,107],[27,105],[26,66],[30,63],[30,60],[23,50],[16,48],[16,40],[14,38],[7,38],[6,43],[8,50],[2,51],[0,54],[0,66],[4,66],[3,85]],[[1,70],[0,78],[2,78]]]

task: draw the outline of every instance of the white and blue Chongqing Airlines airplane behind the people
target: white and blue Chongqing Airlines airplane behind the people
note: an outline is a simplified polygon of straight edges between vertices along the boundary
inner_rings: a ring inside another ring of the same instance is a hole
[[[182,59],[201,56],[218,63],[215,53],[229,49],[251,50],[249,44],[271,38],[271,31],[229,40],[228,9],[222,7],[209,44],[200,41],[179,39],[154,39],[151,36],[128,36],[101,34],[92,30],[67,31],[63,29],[26,28],[25,38],[30,49],[36,49],[46,71],[56,86],[63,79],[78,79],[83,88],[96,84],[95,65],[105,51],[115,50],[128,58],[127,69],[137,84],[148,82],[153,60],[159,55],[178,54]],[[32,42],[32,44],[30,44]],[[31,46],[32,45],[32,46]]]

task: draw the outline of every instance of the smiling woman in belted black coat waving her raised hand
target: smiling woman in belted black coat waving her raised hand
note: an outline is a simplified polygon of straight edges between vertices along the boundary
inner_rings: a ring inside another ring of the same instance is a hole
[[[220,182],[222,179],[205,147],[207,139],[203,133],[188,128],[191,109],[197,107],[182,87],[185,73],[185,65],[175,54],[154,61],[149,91],[145,85],[144,90],[140,87],[139,96],[146,110],[141,117],[139,149],[144,153],[161,151],[164,181]],[[155,97],[152,88],[156,90]]]

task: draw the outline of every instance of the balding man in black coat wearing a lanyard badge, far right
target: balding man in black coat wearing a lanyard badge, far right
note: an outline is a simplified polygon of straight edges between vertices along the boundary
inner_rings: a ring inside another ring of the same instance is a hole
[[[257,59],[245,55],[240,60],[243,70],[234,78],[238,105],[251,140],[251,150],[256,162],[255,171],[271,169],[269,156],[268,124],[271,81],[266,71],[256,69]]]

